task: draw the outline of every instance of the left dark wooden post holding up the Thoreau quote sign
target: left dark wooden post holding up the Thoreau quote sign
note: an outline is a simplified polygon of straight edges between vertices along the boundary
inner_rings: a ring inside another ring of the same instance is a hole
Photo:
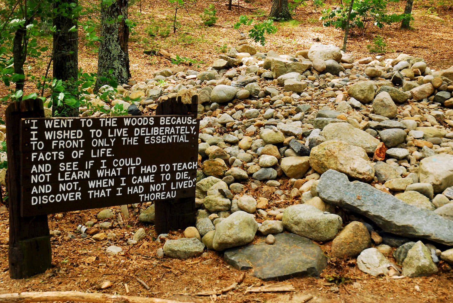
[[[24,279],[50,268],[52,250],[47,215],[21,216],[20,120],[44,117],[43,102],[28,99],[12,102],[5,111],[8,138],[8,201],[10,208],[10,277]]]

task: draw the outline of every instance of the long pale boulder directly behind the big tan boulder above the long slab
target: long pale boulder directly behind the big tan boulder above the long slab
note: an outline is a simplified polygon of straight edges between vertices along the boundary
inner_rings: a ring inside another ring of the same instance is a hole
[[[367,154],[373,154],[377,145],[380,143],[378,139],[366,131],[359,130],[345,122],[331,123],[324,126],[321,135],[326,140],[339,140],[347,144],[359,146],[365,149]]]

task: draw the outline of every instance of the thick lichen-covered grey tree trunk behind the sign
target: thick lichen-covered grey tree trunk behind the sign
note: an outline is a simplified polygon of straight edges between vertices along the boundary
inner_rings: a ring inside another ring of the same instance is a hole
[[[126,83],[130,78],[129,52],[129,26],[127,19],[128,0],[114,0],[111,5],[101,6],[101,44],[99,46],[96,90],[106,84],[99,77],[116,77],[118,84]]]

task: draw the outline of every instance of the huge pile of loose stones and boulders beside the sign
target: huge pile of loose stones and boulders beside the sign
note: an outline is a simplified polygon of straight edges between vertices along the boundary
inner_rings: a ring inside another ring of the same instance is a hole
[[[319,276],[327,260],[311,240],[332,241],[327,255],[357,257],[368,274],[416,277],[453,265],[452,91],[453,67],[423,58],[356,59],[322,44],[259,53],[241,36],[207,70],[167,68],[119,86],[111,104],[86,96],[80,111],[152,114],[198,95],[197,223],[158,255],[217,250],[284,279]],[[139,220],[153,223],[151,202]]]

